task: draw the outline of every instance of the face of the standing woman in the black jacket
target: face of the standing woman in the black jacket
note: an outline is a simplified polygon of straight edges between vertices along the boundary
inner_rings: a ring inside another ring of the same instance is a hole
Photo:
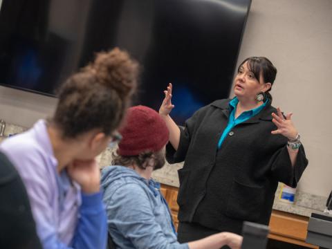
[[[239,68],[239,72],[234,81],[234,94],[240,100],[255,100],[255,95],[261,91],[270,89],[270,83],[264,83],[263,77],[255,78],[254,73],[249,70],[248,62],[245,62]]]

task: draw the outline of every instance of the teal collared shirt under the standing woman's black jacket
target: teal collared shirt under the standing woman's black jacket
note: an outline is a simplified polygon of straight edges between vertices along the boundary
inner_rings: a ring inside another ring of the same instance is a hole
[[[241,115],[237,118],[235,118],[235,111],[237,110],[237,103],[239,103],[239,100],[237,97],[233,98],[230,103],[230,118],[228,119],[228,124],[225,130],[223,131],[223,134],[221,135],[221,138],[219,139],[218,142],[218,149],[221,148],[221,145],[223,144],[223,140],[225,140],[226,136],[228,133],[235,127],[237,124],[240,124],[241,122],[244,122],[248,120],[249,118],[252,118],[253,116],[257,115],[259,111],[264,109],[266,104],[268,103],[268,100],[264,102],[264,104],[260,105],[259,107],[256,107],[254,109],[251,109],[249,111],[243,111]]]

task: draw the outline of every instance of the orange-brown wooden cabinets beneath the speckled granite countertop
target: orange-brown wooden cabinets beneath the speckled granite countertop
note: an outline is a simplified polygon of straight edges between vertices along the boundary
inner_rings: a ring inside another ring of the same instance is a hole
[[[176,199],[178,197],[178,188],[162,184],[160,191],[169,205],[174,224],[177,228],[178,203],[176,203]],[[269,227],[270,234],[268,234],[268,237],[270,239],[306,246],[307,248],[318,248],[317,246],[305,243],[308,228],[308,217],[306,216],[273,210]]]

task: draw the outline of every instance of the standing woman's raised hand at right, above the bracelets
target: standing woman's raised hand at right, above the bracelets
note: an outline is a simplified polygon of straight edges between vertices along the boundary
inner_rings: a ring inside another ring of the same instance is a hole
[[[280,108],[277,108],[277,114],[272,113],[272,122],[277,126],[275,131],[271,131],[273,134],[281,134],[289,140],[294,140],[297,137],[297,129],[291,120],[293,113],[288,113],[286,118],[282,115]]]

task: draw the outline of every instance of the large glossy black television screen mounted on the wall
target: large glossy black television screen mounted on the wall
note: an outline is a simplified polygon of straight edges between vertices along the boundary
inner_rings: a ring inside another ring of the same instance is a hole
[[[251,0],[3,0],[0,84],[54,95],[68,75],[115,46],[142,65],[134,104],[172,117],[228,98]]]

